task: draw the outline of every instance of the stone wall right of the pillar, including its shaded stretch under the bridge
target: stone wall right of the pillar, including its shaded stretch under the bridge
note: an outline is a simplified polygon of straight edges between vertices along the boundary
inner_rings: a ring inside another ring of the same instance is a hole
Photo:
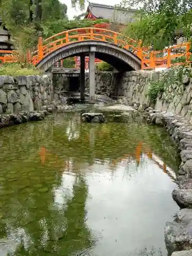
[[[108,78],[103,79],[103,74]],[[126,105],[139,102],[145,106],[152,105],[159,111],[170,111],[175,114],[185,117],[192,123],[192,79],[184,76],[179,82],[168,83],[165,86],[165,91],[159,94],[155,105],[150,102],[147,91],[150,88],[150,83],[161,80],[163,72],[159,71],[132,71],[126,72],[122,79],[120,75],[118,80],[115,80],[116,73],[112,72],[97,72],[96,73],[96,92],[107,95],[122,96],[122,102]],[[111,74],[111,78],[110,78]],[[177,75],[177,74],[176,74]],[[99,90],[99,84],[102,90]]]

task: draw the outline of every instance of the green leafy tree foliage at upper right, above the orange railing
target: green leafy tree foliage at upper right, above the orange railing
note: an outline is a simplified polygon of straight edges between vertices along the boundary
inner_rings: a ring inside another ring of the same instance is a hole
[[[136,41],[141,40],[143,46],[163,49],[173,43],[175,32],[181,29],[186,40],[191,40],[191,0],[123,0],[119,6],[139,7],[124,33]]]

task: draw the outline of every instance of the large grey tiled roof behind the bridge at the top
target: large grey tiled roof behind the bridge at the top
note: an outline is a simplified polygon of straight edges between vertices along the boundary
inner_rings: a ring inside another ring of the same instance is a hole
[[[133,19],[136,12],[135,9],[130,9],[127,11],[115,6],[96,3],[89,3],[87,12],[90,11],[97,18],[110,19],[111,22],[118,24],[129,23]]]

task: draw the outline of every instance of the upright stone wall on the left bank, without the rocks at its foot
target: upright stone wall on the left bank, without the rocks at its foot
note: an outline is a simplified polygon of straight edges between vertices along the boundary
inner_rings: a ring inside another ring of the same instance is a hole
[[[43,110],[52,100],[52,74],[0,76],[0,114]]]

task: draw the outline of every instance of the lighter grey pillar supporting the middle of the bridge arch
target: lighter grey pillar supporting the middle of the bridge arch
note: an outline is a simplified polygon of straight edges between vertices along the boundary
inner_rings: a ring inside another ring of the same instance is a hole
[[[89,101],[95,103],[95,47],[91,47],[89,54]]]

